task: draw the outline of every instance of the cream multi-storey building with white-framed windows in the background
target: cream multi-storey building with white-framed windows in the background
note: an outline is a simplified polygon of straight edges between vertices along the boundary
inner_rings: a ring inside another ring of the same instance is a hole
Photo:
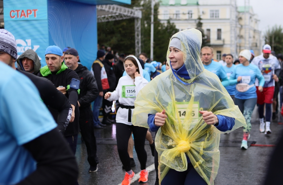
[[[199,16],[207,41],[214,48],[214,59],[221,60],[223,53],[236,58],[242,49],[260,53],[259,20],[251,7],[237,7],[235,0],[160,1],[158,19],[162,23],[170,19],[179,30],[196,28]]]

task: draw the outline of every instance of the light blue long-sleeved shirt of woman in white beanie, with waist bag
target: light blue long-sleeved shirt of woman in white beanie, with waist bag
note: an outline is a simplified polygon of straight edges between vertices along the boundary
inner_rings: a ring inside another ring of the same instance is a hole
[[[259,85],[264,85],[264,77],[262,76],[259,68],[254,64],[249,64],[248,66],[243,66],[243,64],[236,65],[235,73],[230,75],[230,80],[236,81],[239,76],[242,77],[241,82],[239,83],[247,83],[249,85],[255,84],[255,79],[259,80]],[[234,83],[234,84],[236,84]],[[231,84],[231,81],[230,81]],[[246,92],[239,92],[236,90],[235,98],[246,100],[250,98],[257,98],[256,88],[255,86],[250,87]]]

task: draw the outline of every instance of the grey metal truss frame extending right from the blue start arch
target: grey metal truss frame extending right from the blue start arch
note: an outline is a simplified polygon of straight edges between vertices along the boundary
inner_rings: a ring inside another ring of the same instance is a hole
[[[97,5],[97,22],[135,18],[135,55],[141,53],[141,10],[119,5]]]

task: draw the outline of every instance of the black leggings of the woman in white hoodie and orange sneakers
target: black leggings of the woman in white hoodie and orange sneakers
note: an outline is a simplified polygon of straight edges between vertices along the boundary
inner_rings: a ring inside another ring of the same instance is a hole
[[[116,123],[116,139],[118,153],[126,171],[131,170],[130,156],[128,154],[128,143],[131,133],[133,133],[134,135],[135,150],[137,152],[139,163],[141,164],[141,170],[146,169],[147,154],[146,150],[144,149],[146,132],[147,128],[144,127],[126,125],[124,123]]]

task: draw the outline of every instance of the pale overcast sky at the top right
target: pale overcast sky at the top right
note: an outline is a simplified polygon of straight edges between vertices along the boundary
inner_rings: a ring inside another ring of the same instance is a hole
[[[244,6],[244,0],[237,0],[237,6]],[[250,0],[250,6],[260,20],[259,30],[262,34],[275,24],[283,27],[283,0]]]

